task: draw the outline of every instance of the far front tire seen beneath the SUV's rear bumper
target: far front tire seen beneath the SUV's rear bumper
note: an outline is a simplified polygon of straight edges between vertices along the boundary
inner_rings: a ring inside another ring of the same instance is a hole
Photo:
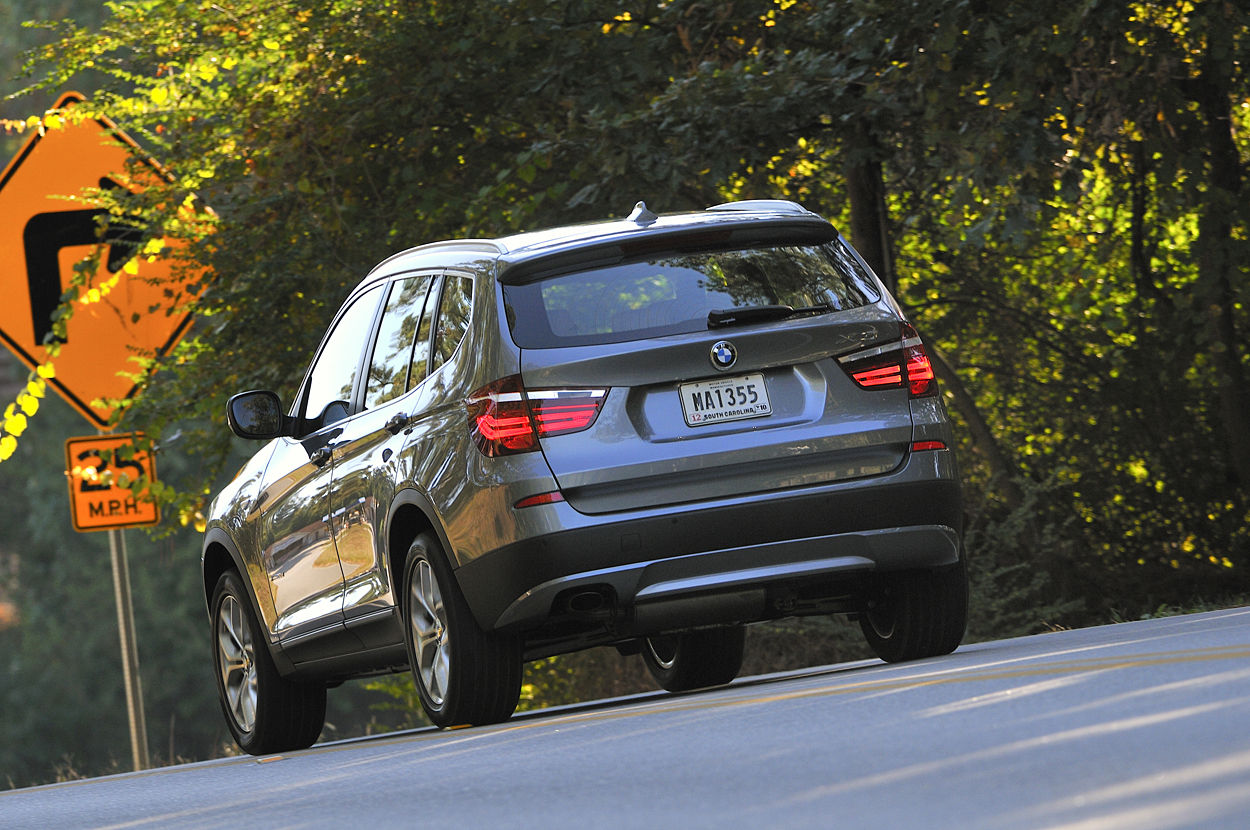
[[[642,662],[666,691],[724,686],[742,668],[746,629],[732,625],[646,638]]]

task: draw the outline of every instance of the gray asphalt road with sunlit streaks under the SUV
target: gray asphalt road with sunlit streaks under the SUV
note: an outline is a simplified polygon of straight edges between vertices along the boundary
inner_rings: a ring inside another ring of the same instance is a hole
[[[1250,609],[0,795],[0,828],[1250,828]]]

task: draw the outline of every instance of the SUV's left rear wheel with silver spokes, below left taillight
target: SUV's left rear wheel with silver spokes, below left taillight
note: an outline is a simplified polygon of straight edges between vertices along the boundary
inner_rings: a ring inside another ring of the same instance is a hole
[[[402,598],[409,665],[429,719],[448,728],[511,718],[521,694],[520,641],[478,628],[434,534],[408,550]]]

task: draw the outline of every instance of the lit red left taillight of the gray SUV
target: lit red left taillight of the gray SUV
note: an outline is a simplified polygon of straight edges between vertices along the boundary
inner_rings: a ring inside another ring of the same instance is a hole
[[[465,400],[469,429],[482,455],[532,452],[539,439],[589,429],[606,389],[531,389],[520,375],[486,384]]]

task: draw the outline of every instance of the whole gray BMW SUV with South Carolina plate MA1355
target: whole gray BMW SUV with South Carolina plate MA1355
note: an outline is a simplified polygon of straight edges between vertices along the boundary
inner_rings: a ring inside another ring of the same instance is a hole
[[[925,348],[820,216],[744,201],[378,265],[215,499],[226,722],[310,745],[328,686],[411,669],[431,721],[516,708],[525,661],[641,652],[725,684],[744,625],[859,619],[899,661],[968,618],[951,430]]]

